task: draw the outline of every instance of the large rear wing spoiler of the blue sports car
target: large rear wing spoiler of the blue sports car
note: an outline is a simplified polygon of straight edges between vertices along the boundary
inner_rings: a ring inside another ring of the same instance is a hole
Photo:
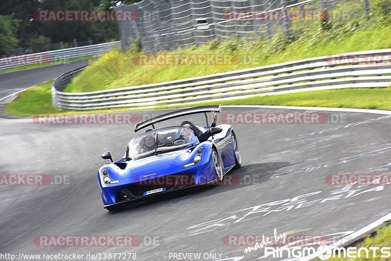
[[[156,123],[196,113],[205,113],[206,125],[209,126],[206,113],[211,112],[212,110],[215,110],[216,112],[221,112],[221,104],[218,106],[201,106],[188,109],[180,109],[166,114],[162,114],[152,119],[137,123],[136,126],[134,126],[134,132],[140,131],[141,129],[144,129],[148,126],[152,126],[152,128],[154,129],[155,127],[153,125]]]

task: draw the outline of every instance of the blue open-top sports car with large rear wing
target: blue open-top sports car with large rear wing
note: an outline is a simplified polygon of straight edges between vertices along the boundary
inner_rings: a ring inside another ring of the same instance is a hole
[[[224,174],[241,164],[235,131],[231,125],[208,126],[206,112],[221,106],[181,109],[136,124],[134,131],[152,126],[130,140],[126,152],[98,170],[103,206],[111,211],[126,202],[161,193],[222,181]],[[191,121],[155,129],[154,125],[176,117],[205,113],[206,127]]]

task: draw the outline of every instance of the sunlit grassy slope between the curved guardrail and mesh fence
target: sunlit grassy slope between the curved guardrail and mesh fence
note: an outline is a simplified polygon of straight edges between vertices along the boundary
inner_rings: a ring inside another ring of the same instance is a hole
[[[328,26],[328,27],[327,27]],[[87,92],[172,81],[261,65],[271,65],[329,54],[391,48],[391,20],[320,23],[308,27],[300,38],[277,34],[271,40],[245,42],[232,38],[199,47],[167,51],[162,54],[228,54],[251,57],[248,64],[230,65],[135,65],[140,53],[112,50],[93,62],[65,88],[68,92]]]

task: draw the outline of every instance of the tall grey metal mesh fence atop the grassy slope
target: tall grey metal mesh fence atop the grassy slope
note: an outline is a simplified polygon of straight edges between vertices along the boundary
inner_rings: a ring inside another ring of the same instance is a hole
[[[282,31],[299,36],[321,19],[369,15],[369,0],[142,0],[115,9],[132,14],[119,22],[123,49],[140,39],[146,52],[157,52],[233,35],[265,39]]]

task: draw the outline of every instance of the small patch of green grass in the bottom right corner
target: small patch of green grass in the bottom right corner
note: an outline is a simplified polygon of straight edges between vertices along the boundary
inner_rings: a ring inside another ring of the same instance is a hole
[[[360,248],[360,247],[390,247],[391,246],[391,225],[383,226],[379,229],[377,229],[374,233],[373,237],[367,237],[364,239],[364,241],[361,241],[354,245],[354,247]],[[376,258],[330,258],[328,261],[334,261],[334,260],[349,260],[349,261],[356,261],[356,260],[390,260],[390,259],[384,259],[380,258],[380,250],[376,251],[377,257]],[[365,252],[362,251],[361,254],[365,255]],[[369,250],[369,257],[373,257],[373,251]],[[319,259],[317,259],[319,260]]]

